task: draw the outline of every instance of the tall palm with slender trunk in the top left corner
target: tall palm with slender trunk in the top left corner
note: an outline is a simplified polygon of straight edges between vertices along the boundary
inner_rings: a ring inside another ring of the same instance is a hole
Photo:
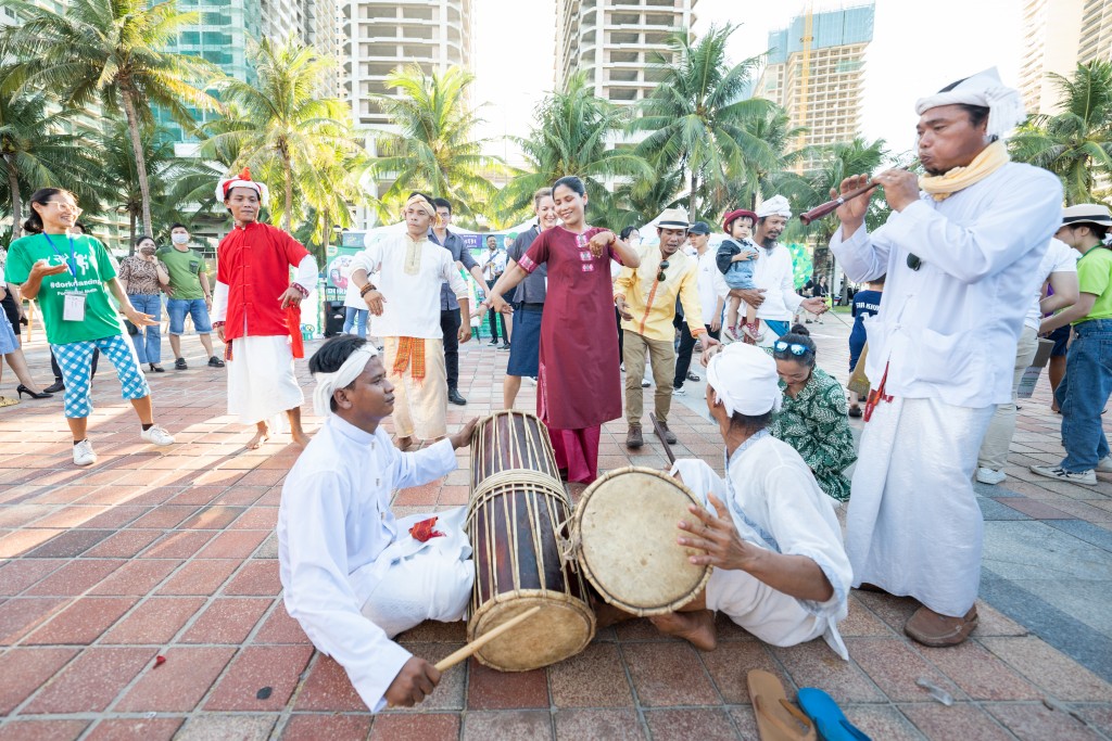
[[[178,12],[176,0],[72,0],[66,14],[9,0],[24,14],[22,26],[4,32],[3,44],[27,71],[24,87],[57,94],[80,108],[99,101],[123,109],[142,197],[142,224],[151,231],[151,200],[143,126],[153,124],[152,107],[166,110],[187,130],[188,106],[216,107],[203,90],[217,70],[202,59],[163,51],[178,29],[200,14]]]

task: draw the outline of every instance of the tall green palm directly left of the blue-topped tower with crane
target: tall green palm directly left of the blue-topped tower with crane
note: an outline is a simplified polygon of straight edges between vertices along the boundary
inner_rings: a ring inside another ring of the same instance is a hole
[[[657,170],[684,173],[693,219],[717,213],[746,161],[766,159],[767,147],[745,121],[765,116],[772,103],[742,98],[761,58],[728,63],[726,43],[736,28],[712,26],[698,40],[687,31],[673,34],[668,57],[654,66],[663,79],[631,126],[651,132],[638,151]]]

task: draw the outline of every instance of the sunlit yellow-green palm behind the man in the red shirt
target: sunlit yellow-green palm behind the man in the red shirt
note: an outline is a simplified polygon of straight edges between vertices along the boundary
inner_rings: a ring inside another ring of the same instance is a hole
[[[212,136],[200,153],[230,163],[231,170],[249,167],[257,180],[282,193],[281,202],[270,203],[270,216],[292,231],[295,214],[304,212],[302,192],[325,186],[319,160],[356,147],[347,126],[350,113],[339,100],[317,97],[332,62],[311,47],[292,37],[262,39],[248,56],[258,82],[221,83],[227,113],[206,124]]]

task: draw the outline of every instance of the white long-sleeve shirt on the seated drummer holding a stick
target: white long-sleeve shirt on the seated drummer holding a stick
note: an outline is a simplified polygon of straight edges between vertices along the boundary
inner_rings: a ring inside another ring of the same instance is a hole
[[[411,655],[360,612],[381,577],[376,560],[388,567],[383,562],[390,559],[379,557],[398,540],[390,492],[456,465],[448,440],[403,453],[381,427],[371,434],[331,414],[282,485],[278,563],[286,610],[344,667],[371,711]],[[425,545],[409,540],[415,550]]]

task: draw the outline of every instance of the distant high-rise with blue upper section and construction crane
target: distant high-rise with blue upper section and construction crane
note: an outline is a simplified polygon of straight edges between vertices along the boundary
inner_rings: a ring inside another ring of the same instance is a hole
[[[754,94],[784,107],[793,127],[806,127],[804,146],[860,136],[873,14],[872,3],[810,13],[768,33],[767,66]]]

